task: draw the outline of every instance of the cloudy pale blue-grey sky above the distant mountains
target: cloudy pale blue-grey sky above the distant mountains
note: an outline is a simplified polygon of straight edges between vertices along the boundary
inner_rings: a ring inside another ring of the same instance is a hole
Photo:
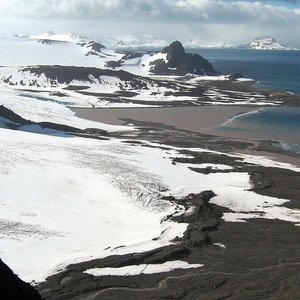
[[[0,0],[0,32],[46,31],[203,46],[269,35],[300,48],[300,0]]]

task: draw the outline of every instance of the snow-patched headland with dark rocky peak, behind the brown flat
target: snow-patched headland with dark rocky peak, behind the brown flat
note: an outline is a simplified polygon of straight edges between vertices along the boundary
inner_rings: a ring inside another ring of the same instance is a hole
[[[0,35],[0,66],[0,87],[68,107],[265,104],[259,93],[212,92],[205,82],[237,78],[218,75],[178,41],[142,52],[108,49],[72,33]]]

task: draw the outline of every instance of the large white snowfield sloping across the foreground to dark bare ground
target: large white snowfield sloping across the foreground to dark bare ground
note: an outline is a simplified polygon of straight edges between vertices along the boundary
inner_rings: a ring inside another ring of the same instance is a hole
[[[27,281],[70,263],[168,245],[187,224],[166,219],[184,210],[161,195],[211,189],[212,202],[233,211],[226,221],[300,223],[298,210],[281,206],[286,200],[248,191],[248,174],[196,173],[172,164],[180,156],[173,149],[0,131],[0,255]]]

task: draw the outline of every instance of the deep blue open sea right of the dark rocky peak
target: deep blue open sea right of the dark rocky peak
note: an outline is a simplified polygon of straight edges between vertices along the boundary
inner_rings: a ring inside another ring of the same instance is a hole
[[[224,74],[241,73],[259,88],[300,94],[300,51],[252,49],[189,49],[208,59]]]

